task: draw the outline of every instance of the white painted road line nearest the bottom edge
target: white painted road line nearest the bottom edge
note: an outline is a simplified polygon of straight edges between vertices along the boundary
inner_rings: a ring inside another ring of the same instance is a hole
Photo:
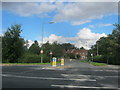
[[[51,85],[53,87],[60,87],[60,88],[92,88],[92,89],[120,89],[116,87],[89,87],[89,86],[73,86],[73,85]]]

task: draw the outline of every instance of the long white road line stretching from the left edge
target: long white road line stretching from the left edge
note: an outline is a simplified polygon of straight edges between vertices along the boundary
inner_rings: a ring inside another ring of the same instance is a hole
[[[71,80],[71,81],[96,81],[95,79],[69,79],[69,78],[52,78],[52,77],[29,77],[29,76],[16,76],[10,74],[2,74],[4,77],[17,77],[17,78],[31,78],[31,79],[46,79],[46,80]]]

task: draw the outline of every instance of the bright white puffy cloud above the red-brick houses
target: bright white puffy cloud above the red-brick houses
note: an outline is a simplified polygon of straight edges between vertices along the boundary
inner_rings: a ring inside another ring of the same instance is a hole
[[[106,37],[105,33],[93,33],[89,28],[83,28],[77,33],[78,42],[75,43],[76,47],[85,47],[90,49],[91,45],[94,45],[100,37]]]

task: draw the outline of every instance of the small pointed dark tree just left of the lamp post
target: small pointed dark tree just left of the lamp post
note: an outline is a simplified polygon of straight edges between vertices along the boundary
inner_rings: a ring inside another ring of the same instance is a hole
[[[38,42],[35,40],[34,43],[29,48],[29,53],[32,54],[40,54],[40,47],[38,45]]]

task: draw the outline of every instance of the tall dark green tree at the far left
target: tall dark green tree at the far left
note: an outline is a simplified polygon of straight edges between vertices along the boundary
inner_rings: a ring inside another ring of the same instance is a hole
[[[7,29],[2,38],[2,57],[7,62],[18,62],[23,54],[24,40],[21,38],[21,25],[15,24]],[[3,61],[4,62],[4,61]]]

